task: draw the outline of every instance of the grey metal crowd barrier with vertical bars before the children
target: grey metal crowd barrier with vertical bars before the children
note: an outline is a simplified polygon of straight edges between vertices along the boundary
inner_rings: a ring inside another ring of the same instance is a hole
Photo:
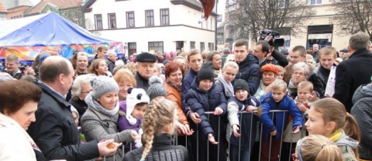
[[[271,110],[270,111],[270,113],[272,113],[272,114],[275,114],[275,113],[277,113],[277,112],[283,112],[283,116],[286,114],[286,113],[288,113],[288,111],[287,110]],[[250,131],[252,131],[252,122],[253,122],[253,116],[254,115],[257,115],[257,111],[254,111],[254,112],[246,112],[246,111],[239,111],[238,112],[239,114],[240,114],[240,122],[242,122],[242,116],[243,115],[251,115],[251,129],[250,129]],[[207,115],[207,119],[208,119],[208,121],[209,121],[209,118],[210,118],[210,115],[213,115],[213,112],[205,112],[205,115]],[[272,115],[272,117],[271,117],[271,119],[273,120],[273,116],[274,115]],[[284,120],[283,119],[283,125],[284,125],[284,122],[285,122],[286,120]],[[288,121],[288,120],[287,120]],[[289,122],[289,121],[288,121]],[[305,118],[304,118],[304,124],[305,124]],[[218,131],[217,132],[215,132],[214,131],[214,133],[218,133],[219,134],[219,130],[221,130],[220,129],[220,124],[221,124],[221,119],[220,119],[220,116],[218,116]],[[301,132],[301,138],[303,138],[303,137],[305,137],[305,135],[303,135],[304,134],[304,131],[306,130],[305,129],[305,125],[303,124],[303,128],[302,128],[302,131],[300,131]],[[197,125],[197,128],[198,128],[198,125]],[[229,128],[229,127],[227,127],[227,128]],[[258,156],[258,160],[261,160],[261,143],[262,143],[262,128],[263,128],[263,123],[262,122],[260,122],[259,123],[259,126],[258,126],[258,131],[259,131],[259,133],[258,133],[258,136],[256,136],[256,140],[257,140],[257,137],[259,137],[259,151],[258,151],[258,154],[259,154],[259,156]],[[278,155],[278,159],[277,160],[280,160],[280,161],[287,161],[287,160],[282,160],[281,159],[281,155],[282,155],[282,145],[283,145],[283,135],[284,135],[284,128],[282,128],[282,130],[281,130],[281,143],[280,143],[280,148],[279,148],[279,155]],[[240,127],[240,131],[242,131],[242,127]],[[196,153],[196,160],[193,160],[193,161],[199,161],[199,137],[198,137],[198,135],[199,135],[199,132],[198,132],[198,130],[196,129],[196,130],[194,130],[194,132],[196,133],[196,138],[197,138],[197,141],[196,141],[196,144],[197,144],[197,153]],[[233,134],[234,135],[234,134]],[[250,132],[249,133],[249,137],[250,137],[250,140],[252,141],[252,132]],[[177,133],[175,133],[174,135],[172,135],[172,142],[171,142],[171,144],[172,145],[178,145],[178,137],[177,137],[178,135],[177,135]],[[188,148],[188,146],[190,146],[190,145],[188,145],[188,137],[190,137],[190,136],[186,136],[185,137],[185,142],[186,142],[186,148],[187,149],[190,149],[190,148]],[[218,135],[218,138],[215,138],[216,140],[220,140],[220,137],[226,137],[226,136],[220,136],[220,135]],[[242,133],[241,133],[241,135],[240,135],[240,137],[239,137],[239,152],[238,152],[238,156],[239,156],[239,161],[241,160],[241,158],[240,158],[240,151],[241,151],[241,138],[242,137],[246,137],[246,136],[243,136],[242,135]],[[268,158],[268,160],[270,161],[271,160],[271,158],[270,158],[270,156],[271,156],[271,145],[272,145],[272,137],[268,137],[269,139],[270,139],[270,146],[269,146],[269,158]],[[291,140],[291,142],[292,142],[292,140],[293,140],[293,133],[291,133],[291,136],[290,136],[290,140]],[[207,140],[208,141],[208,140]],[[255,141],[255,140],[253,140],[253,141]],[[292,143],[290,142],[290,144],[289,144],[289,149],[292,149]],[[132,150],[132,143],[129,143],[129,145],[130,145],[130,150]],[[230,151],[230,142],[229,142],[229,146],[228,146],[228,151],[227,151],[227,159],[226,160],[230,160],[229,159],[229,151]],[[295,145],[294,145],[295,146]],[[208,141],[208,144],[207,144],[207,147],[208,147],[208,150],[207,150],[207,160],[206,161],[209,161],[209,158],[208,158],[208,156],[209,156],[209,141]],[[212,160],[212,161],[219,161],[220,159],[219,159],[219,148],[221,148],[220,146],[219,146],[219,144],[217,144],[217,160]],[[252,158],[252,151],[254,150],[254,149],[252,149],[253,147],[251,147],[251,144],[249,144],[249,149],[250,149],[250,151],[251,151],[251,154],[250,154],[250,158],[248,159],[248,160],[252,160],[252,161],[256,161],[257,160],[257,158],[256,158],[256,160],[254,160],[253,158]],[[295,147],[293,147],[293,148],[295,148]],[[124,155],[125,155],[125,151],[124,151],[124,145],[122,146],[122,148],[121,148],[121,152],[122,152],[122,154],[123,154],[123,157],[124,157]],[[288,160],[292,160],[291,159],[291,154],[292,153],[294,153],[294,151],[284,151],[284,153],[285,154],[287,154],[288,155]],[[189,157],[192,157],[192,156],[189,156]],[[252,159],[251,159],[252,158]],[[104,161],[106,161],[106,157],[104,157],[103,158],[103,160]],[[115,160],[115,157],[113,158],[113,160]],[[192,159],[191,159],[192,160]],[[120,160],[118,160],[118,161],[120,161]],[[200,161],[204,161],[204,160],[200,160]],[[242,161],[245,161],[245,160],[242,160]]]

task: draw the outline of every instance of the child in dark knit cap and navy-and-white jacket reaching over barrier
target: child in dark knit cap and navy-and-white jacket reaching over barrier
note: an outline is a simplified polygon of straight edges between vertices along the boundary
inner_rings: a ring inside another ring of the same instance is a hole
[[[256,111],[260,102],[250,96],[248,83],[237,79],[234,83],[235,96],[228,103],[227,140],[230,161],[248,161],[256,139],[258,117],[254,113],[239,114],[239,111]],[[239,151],[240,149],[240,151]]]

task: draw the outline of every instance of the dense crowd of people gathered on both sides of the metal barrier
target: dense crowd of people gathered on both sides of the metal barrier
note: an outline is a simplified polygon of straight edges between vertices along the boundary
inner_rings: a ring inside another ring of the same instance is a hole
[[[42,53],[22,69],[7,55],[0,160],[372,160],[368,35],[340,52],[271,38],[234,54]]]

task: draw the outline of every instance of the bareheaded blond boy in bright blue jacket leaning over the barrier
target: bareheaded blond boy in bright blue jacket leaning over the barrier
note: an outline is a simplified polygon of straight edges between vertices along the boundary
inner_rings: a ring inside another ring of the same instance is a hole
[[[299,111],[294,101],[286,95],[286,88],[286,83],[277,79],[272,83],[272,92],[261,97],[258,116],[264,126],[262,128],[260,160],[269,160],[269,157],[270,160],[279,160],[281,135],[288,123],[287,112],[275,112],[273,114],[270,110],[288,110],[293,119],[293,133],[299,132],[304,124],[303,113]]]

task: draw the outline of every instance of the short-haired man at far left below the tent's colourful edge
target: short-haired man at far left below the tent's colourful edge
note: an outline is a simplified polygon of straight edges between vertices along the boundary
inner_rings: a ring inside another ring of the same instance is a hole
[[[15,54],[9,54],[5,58],[5,66],[7,67],[5,71],[17,79],[26,74],[35,75],[35,71],[30,66],[22,65],[20,68],[19,58]]]

